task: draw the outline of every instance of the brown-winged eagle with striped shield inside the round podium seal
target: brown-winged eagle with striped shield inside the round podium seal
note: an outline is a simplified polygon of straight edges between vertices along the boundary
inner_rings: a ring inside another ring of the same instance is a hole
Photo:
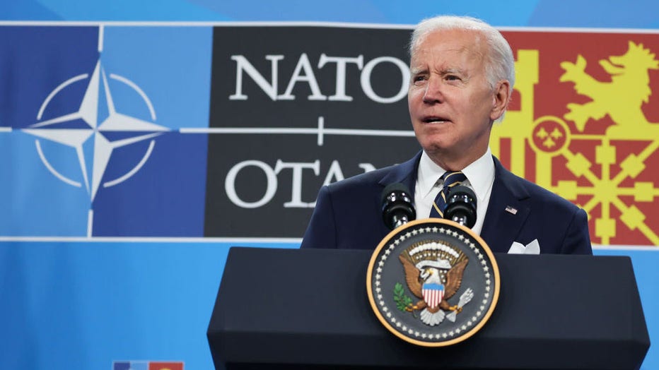
[[[473,297],[471,290],[467,289],[460,303],[448,303],[448,299],[460,289],[469,258],[460,249],[433,241],[409,246],[398,259],[403,265],[409,291],[420,299],[402,309],[413,313],[420,311],[421,321],[429,326],[441,323],[446,312],[450,313],[449,320],[455,321],[462,306]]]

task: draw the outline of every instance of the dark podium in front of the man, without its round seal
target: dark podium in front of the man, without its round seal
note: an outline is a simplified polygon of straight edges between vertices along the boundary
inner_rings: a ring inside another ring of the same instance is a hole
[[[650,347],[628,257],[495,254],[489,321],[428,348],[375,317],[371,254],[231,248],[207,333],[216,369],[638,369]]]

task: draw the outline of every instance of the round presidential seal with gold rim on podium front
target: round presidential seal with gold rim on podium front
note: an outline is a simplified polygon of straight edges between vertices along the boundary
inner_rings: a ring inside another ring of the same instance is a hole
[[[453,345],[477,333],[494,311],[499,287],[485,241],[439,218],[390,232],[366,274],[375,316],[397,337],[426,347]]]

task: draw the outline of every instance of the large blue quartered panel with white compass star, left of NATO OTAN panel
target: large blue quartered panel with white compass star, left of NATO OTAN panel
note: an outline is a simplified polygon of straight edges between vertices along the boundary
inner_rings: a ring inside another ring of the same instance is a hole
[[[0,26],[0,237],[202,237],[211,37]]]

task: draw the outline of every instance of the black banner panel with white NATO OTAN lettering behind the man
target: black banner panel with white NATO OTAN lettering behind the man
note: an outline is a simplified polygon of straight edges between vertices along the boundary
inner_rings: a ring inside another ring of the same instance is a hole
[[[420,150],[409,35],[215,28],[204,236],[301,237],[323,184]]]

